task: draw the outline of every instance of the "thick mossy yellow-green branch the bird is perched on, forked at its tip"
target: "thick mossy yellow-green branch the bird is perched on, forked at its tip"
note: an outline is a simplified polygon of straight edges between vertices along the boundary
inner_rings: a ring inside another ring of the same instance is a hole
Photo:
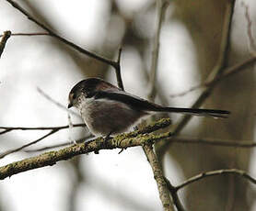
[[[27,172],[32,169],[53,165],[57,161],[68,160],[80,154],[87,154],[99,150],[125,149],[144,144],[152,144],[160,139],[167,139],[172,135],[169,132],[159,135],[149,133],[157,131],[160,128],[169,127],[170,123],[171,121],[169,119],[160,119],[143,129],[122,134],[107,141],[102,138],[93,139],[86,143],[76,144],[62,150],[45,152],[36,157],[9,163],[6,166],[0,167],[0,180],[4,180],[6,177],[20,172]]]

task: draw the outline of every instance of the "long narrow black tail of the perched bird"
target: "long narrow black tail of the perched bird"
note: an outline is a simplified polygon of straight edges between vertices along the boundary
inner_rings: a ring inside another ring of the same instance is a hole
[[[230,114],[229,111],[215,110],[215,109],[200,109],[200,108],[181,108],[181,107],[156,107],[154,111],[158,112],[173,112],[181,113],[184,115],[201,116],[201,117],[217,117],[227,118]]]

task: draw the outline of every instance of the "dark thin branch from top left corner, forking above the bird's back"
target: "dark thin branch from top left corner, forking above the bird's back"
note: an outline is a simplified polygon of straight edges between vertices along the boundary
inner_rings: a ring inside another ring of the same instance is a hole
[[[27,10],[25,10],[24,8],[22,8],[21,6],[19,6],[17,4],[17,2],[14,2],[12,0],[6,0],[6,2],[8,2],[11,6],[15,7],[19,12],[21,12],[24,16],[28,17],[29,20],[31,20],[32,22],[34,22],[35,24],[37,24],[38,26],[40,26],[41,28],[43,28],[44,30],[46,30],[48,33],[49,33],[49,36],[52,36],[52,38],[55,38],[55,39],[59,39],[60,41],[64,42],[64,44],[72,47],[73,49],[83,53],[83,54],[86,54],[87,56],[91,57],[91,58],[94,58],[98,61],[101,61],[101,62],[104,62],[106,64],[109,64],[111,65],[115,71],[121,75],[121,72],[120,72],[120,59],[119,61],[111,61],[105,57],[102,57],[102,56],[99,56],[97,55],[96,53],[94,52],[91,52],[91,51],[88,51],[88,50],[85,50],[83,48],[81,48],[80,46],[76,45],[75,43],[69,41],[68,39],[64,39],[63,37],[59,36],[58,34],[56,34],[54,31],[52,31],[51,28],[48,28],[46,27],[44,24],[42,24],[40,21],[38,21],[36,18],[32,17],[29,12]],[[121,50],[119,52],[121,54]],[[119,78],[121,79],[121,77]],[[122,80],[121,81],[118,81],[119,85],[121,88],[123,88],[123,85],[122,85]]]

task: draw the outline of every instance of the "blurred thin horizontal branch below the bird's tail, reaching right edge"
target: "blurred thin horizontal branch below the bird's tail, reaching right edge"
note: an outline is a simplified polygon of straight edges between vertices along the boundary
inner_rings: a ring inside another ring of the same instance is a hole
[[[253,148],[256,147],[256,142],[253,141],[233,141],[233,140],[216,140],[216,139],[192,139],[174,137],[169,139],[172,143],[186,143],[186,144],[204,144],[219,147],[235,147],[235,148]]]

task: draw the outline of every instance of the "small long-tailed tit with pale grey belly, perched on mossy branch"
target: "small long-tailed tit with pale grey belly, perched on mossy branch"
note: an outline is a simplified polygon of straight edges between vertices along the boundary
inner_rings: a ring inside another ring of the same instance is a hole
[[[80,111],[91,133],[104,137],[122,133],[156,112],[223,118],[229,115],[224,110],[159,106],[99,78],[76,83],[69,94],[68,108],[72,106]]]

